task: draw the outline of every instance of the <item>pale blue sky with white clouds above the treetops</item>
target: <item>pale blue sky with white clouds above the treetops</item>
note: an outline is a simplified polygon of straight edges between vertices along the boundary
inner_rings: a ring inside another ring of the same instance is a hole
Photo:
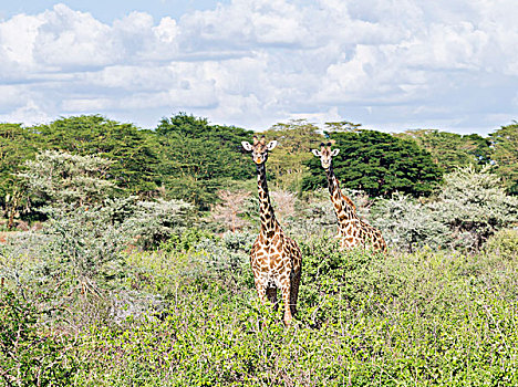
[[[517,18],[516,0],[3,1],[0,122],[487,134],[518,119]]]

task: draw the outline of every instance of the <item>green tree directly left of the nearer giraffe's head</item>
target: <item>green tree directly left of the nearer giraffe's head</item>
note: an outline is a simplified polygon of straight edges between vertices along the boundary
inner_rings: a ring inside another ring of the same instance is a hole
[[[156,135],[162,144],[159,174],[172,198],[208,209],[225,180],[253,176],[250,160],[241,151],[241,140],[249,140],[251,132],[209,125],[179,113],[163,118]]]

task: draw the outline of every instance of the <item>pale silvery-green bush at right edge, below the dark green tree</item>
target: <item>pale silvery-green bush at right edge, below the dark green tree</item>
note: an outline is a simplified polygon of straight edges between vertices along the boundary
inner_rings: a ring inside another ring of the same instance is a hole
[[[377,200],[371,218],[388,245],[398,250],[478,250],[493,233],[518,221],[518,202],[506,196],[489,167],[477,171],[468,166],[445,176],[435,200],[395,195]]]

